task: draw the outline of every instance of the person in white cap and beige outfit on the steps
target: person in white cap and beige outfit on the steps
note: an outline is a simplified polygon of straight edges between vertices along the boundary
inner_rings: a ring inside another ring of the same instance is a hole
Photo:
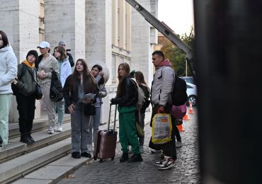
[[[43,94],[43,102],[45,103],[45,107],[47,108],[48,114],[48,134],[54,134],[55,132],[55,103],[50,100],[50,86],[51,86],[51,78],[52,71],[57,72],[57,76],[59,76],[59,68],[57,64],[57,59],[55,59],[52,54],[50,54],[50,44],[49,42],[40,42],[38,45],[40,49],[41,55],[38,58],[38,62],[36,68],[38,69],[38,78],[40,81],[40,86]]]

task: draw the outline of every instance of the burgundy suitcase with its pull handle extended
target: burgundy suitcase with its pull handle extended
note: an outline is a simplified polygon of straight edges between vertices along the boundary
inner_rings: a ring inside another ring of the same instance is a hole
[[[93,150],[93,159],[100,159],[100,162],[103,159],[113,159],[115,158],[115,147],[118,132],[115,131],[115,118],[116,118],[116,111],[117,105],[115,105],[115,117],[114,117],[114,126],[113,129],[109,129],[110,127],[110,113],[111,113],[111,106],[109,109],[109,118],[108,118],[108,129],[107,130],[99,130],[96,134],[94,150]]]

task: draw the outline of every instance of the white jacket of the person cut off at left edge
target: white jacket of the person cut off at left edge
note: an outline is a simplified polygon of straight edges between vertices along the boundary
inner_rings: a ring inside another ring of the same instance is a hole
[[[11,46],[0,49],[0,94],[13,93],[11,83],[17,75],[17,59]]]

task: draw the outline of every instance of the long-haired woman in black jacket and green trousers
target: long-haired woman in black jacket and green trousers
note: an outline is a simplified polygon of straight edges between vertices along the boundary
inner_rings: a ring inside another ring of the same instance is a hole
[[[118,104],[119,112],[119,139],[122,146],[123,155],[120,162],[137,162],[143,161],[135,127],[135,111],[137,103],[137,88],[130,78],[130,67],[123,62],[118,67],[118,91],[115,98],[111,99],[111,103]],[[133,155],[128,158],[128,145],[132,146]]]

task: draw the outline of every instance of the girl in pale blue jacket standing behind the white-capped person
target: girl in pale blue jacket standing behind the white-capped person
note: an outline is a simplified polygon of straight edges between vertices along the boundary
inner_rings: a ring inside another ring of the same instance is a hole
[[[58,67],[59,67],[59,75],[58,79],[62,83],[62,87],[64,87],[64,82],[67,79],[67,76],[72,74],[71,65],[69,63],[69,57],[67,56],[66,50],[64,50],[64,47],[55,47],[54,49],[54,55],[57,59]],[[62,124],[63,124],[63,118],[64,118],[64,99],[55,103],[57,108],[57,114],[58,114],[58,125],[55,125],[55,130],[57,132],[62,132]]]

